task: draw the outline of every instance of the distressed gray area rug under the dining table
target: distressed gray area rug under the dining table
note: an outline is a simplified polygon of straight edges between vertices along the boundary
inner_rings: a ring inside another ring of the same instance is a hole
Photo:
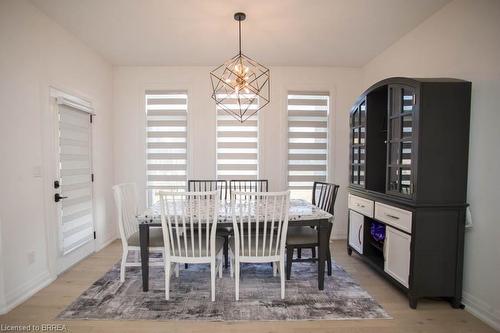
[[[234,298],[234,280],[224,271],[217,278],[216,301],[210,300],[208,265],[183,267],[171,278],[170,300],[165,300],[164,273],[150,268],[149,292],[142,291],[140,268],[127,268],[120,283],[116,264],[68,306],[59,319],[108,320],[346,320],[390,319],[364,289],[339,265],[325,276],[325,290],[317,288],[317,265],[294,263],[286,297],[280,299],[280,280],[269,264],[243,264],[240,300]]]

